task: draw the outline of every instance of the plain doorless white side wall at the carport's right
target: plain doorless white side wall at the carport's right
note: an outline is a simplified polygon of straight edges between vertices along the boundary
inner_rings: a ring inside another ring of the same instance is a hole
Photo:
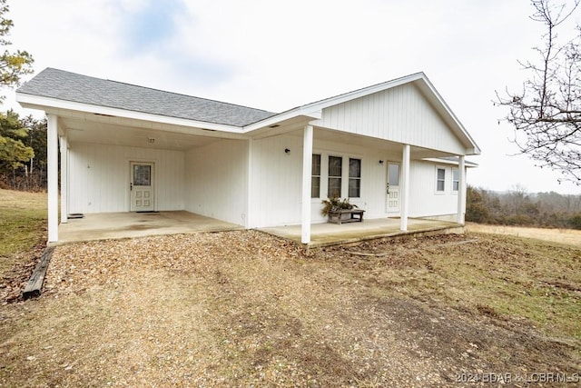
[[[186,210],[246,224],[248,142],[220,140],[185,156]]]

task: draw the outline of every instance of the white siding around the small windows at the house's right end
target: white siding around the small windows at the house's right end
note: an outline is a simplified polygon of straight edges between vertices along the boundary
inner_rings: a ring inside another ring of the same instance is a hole
[[[436,169],[446,171],[445,190],[436,191]],[[409,216],[441,217],[458,213],[458,192],[452,191],[452,166],[414,161],[410,168]],[[454,221],[456,218],[450,218]]]

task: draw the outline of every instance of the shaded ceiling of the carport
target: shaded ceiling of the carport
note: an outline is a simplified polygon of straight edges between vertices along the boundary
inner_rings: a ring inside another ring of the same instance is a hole
[[[185,134],[160,131],[140,126],[87,121],[76,118],[59,119],[59,126],[74,143],[113,144],[133,147],[162,148],[184,151],[193,147],[211,144],[218,137],[201,134]],[[153,142],[150,141],[153,139]]]

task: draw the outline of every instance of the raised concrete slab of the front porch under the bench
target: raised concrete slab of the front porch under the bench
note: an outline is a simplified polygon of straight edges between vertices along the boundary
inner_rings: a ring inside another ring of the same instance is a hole
[[[300,244],[300,225],[261,228],[261,232],[274,234]],[[399,230],[399,219],[379,218],[350,224],[311,224],[310,247],[350,244],[382,237],[406,234],[463,233],[462,224],[426,219],[408,220],[408,231]]]

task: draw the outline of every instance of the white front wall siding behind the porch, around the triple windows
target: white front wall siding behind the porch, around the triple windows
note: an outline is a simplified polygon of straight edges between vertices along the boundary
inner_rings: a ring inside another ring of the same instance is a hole
[[[290,154],[284,149],[289,148]],[[313,154],[321,154],[320,198],[311,199],[311,221],[327,221],[320,214],[321,200],[327,198],[328,158],[343,157],[342,197],[348,195],[349,158],[361,159],[361,193],[352,204],[366,211],[367,218],[387,216],[385,212],[387,161],[400,161],[400,154],[388,154],[350,144],[315,140]],[[252,145],[251,208],[255,212],[252,227],[300,224],[302,138],[282,135],[256,140]],[[383,160],[383,164],[379,164]]]

